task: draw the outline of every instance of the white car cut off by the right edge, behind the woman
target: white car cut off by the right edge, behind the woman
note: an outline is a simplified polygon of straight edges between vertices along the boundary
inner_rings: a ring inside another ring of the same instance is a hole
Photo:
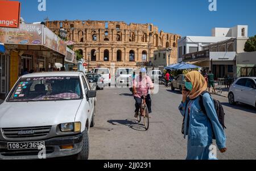
[[[256,107],[256,77],[238,78],[229,88],[229,103],[246,103]]]

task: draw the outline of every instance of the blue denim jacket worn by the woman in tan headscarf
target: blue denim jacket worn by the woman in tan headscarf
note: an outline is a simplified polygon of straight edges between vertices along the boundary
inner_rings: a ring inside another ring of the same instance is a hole
[[[203,104],[207,114],[201,110],[199,98],[197,97],[191,103],[191,110],[189,114],[189,125],[187,125],[188,119],[188,105],[187,102],[181,102],[179,110],[181,115],[185,115],[184,122],[184,138],[188,135],[188,139],[191,140],[192,146],[207,147],[212,144],[213,134],[216,137],[216,144],[219,149],[226,147],[226,136],[224,129],[218,121],[217,113],[214,109],[214,103],[209,93],[203,95]],[[187,106],[187,110],[185,107]],[[213,133],[214,132],[214,133]]]

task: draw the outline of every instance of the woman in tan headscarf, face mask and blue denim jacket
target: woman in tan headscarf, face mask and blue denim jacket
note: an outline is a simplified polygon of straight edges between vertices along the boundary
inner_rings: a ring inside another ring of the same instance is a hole
[[[184,138],[188,137],[187,160],[217,159],[210,155],[210,145],[213,143],[213,135],[221,153],[226,151],[226,136],[221,126],[213,99],[209,93],[202,94],[207,90],[205,78],[197,71],[185,75],[187,82],[182,91],[183,99],[179,106],[183,119]],[[200,105],[202,95],[204,113]]]

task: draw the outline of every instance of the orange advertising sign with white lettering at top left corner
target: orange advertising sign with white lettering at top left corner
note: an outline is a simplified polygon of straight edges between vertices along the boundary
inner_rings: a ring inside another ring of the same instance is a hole
[[[0,27],[19,27],[20,2],[0,0]]]

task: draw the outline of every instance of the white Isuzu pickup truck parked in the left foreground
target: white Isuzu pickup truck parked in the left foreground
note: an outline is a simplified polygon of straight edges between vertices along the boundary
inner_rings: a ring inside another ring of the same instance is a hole
[[[0,159],[88,159],[95,105],[82,72],[20,77],[0,105]]]

